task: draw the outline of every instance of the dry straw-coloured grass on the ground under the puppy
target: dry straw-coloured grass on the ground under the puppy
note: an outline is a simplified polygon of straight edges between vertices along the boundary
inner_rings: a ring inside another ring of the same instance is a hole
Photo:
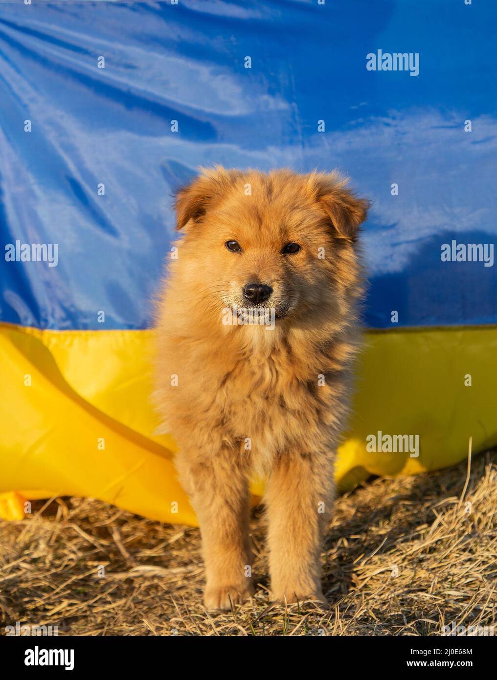
[[[0,524],[0,630],[18,621],[58,625],[59,635],[439,635],[452,621],[494,625],[496,462],[495,452],[473,460],[464,502],[466,464],[339,498],[323,554],[328,611],[270,607],[260,511],[256,598],[211,615],[199,530],[90,499],[33,504],[31,518]]]

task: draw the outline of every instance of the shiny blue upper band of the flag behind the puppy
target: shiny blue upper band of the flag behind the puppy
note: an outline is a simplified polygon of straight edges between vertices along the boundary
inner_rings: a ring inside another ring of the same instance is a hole
[[[368,326],[496,323],[496,267],[441,261],[496,240],[496,24],[491,0],[0,4],[1,239],[58,244],[0,258],[0,320],[147,326],[171,192],[221,163],[338,167],[373,201]],[[379,49],[419,75],[367,70]]]

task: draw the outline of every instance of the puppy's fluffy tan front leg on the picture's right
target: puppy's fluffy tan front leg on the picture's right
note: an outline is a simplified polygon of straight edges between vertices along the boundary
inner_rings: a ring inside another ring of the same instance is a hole
[[[273,599],[326,602],[320,554],[332,494],[330,460],[294,453],[275,462],[266,496]]]

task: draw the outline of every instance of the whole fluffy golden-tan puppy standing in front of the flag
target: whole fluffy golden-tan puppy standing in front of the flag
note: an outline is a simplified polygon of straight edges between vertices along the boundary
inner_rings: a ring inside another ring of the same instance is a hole
[[[204,603],[253,592],[250,477],[267,479],[280,602],[325,601],[322,534],[360,347],[358,227],[337,173],[203,169],[177,193],[157,309],[156,403],[202,534]]]

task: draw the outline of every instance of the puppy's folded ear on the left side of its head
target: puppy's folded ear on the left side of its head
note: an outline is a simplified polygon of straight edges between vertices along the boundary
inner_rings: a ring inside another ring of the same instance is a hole
[[[238,174],[241,173],[225,170],[220,165],[213,169],[201,168],[201,174],[176,193],[176,229],[181,229],[190,220],[201,220],[207,209],[233,184]]]

